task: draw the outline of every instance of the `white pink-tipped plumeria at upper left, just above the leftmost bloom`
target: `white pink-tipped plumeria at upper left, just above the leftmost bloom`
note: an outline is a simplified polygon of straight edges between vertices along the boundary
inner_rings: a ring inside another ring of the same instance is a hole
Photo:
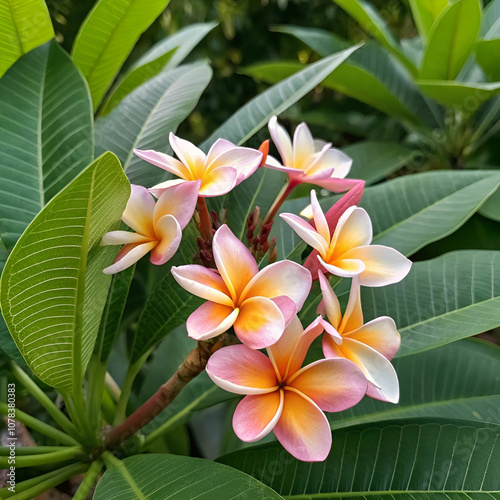
[[[263,156],[256,149],[238,147],[225,139],[218,139],[208,154],[172,133],[169,139],[179,160],[158,151],[134,150],[139,158],[179,177],[152,187],[155,196],[172,184],[196,180],[201,181],[199,196],[222,196],[252,175]]]

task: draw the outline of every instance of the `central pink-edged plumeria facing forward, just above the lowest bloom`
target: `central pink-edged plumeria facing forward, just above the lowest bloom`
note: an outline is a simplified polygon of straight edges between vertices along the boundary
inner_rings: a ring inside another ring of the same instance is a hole
[[[172,267],[183,288],[208,300],[189,316],[189,336],[206,340],[234,327],[252,349],[274,344],[302,308],[311,273],[288,260],[259,271],[248,248],[226,225],[215,233],[212,249],[217,271],[198,265]]]

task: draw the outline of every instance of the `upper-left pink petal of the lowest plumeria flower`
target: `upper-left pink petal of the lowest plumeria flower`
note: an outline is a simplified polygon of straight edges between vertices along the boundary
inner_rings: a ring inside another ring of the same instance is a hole
[[[234,394],[266,394],[278,389],[269,358],[244,345],[223,347],[212,354],[207,374],[219,387]]]

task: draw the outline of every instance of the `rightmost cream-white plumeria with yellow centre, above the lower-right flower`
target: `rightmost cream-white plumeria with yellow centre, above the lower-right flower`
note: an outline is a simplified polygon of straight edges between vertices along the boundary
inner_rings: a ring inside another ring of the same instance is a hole
[[[373,229],[370,216],[351,206],[332,231],[316,192],[311,191],[314,226],[294,214],[281,214],[292,229],[318,253],[317,261],[329,273],[343,278],[359,276],[363,286],[385,286],[401,281],[410,271],[411,261],[394,248],[370,245]]]

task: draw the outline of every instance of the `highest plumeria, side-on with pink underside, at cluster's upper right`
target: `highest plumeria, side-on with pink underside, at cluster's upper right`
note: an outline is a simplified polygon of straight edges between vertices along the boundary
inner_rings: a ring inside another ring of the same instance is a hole
[[[268,126],[283,165],[268,156],[265,166],[288,174],[291,185],[307,182],[340,193],[363,182],[344,179],[351,169],[352,159],[332,148],[331,143],[314,139],[305,123],[295,129],[293,144],[276,116],[271,118]]]

